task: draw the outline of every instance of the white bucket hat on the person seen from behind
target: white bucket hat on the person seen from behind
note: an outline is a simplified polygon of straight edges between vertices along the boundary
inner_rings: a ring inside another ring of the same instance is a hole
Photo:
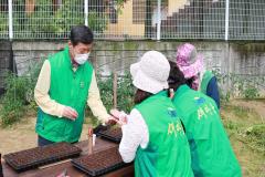
[[[130,65],[132,84],[152,94],[168,88],[169,72],[170,65],[167,58],[157,51],[146,52],[138,63]]]

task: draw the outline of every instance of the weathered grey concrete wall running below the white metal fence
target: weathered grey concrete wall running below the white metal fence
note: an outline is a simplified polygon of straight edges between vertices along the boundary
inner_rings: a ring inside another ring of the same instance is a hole
[[[182,43],[182,42],[181,42]],[[176,49],[180,42],[106,42],[96,41],[91,60],[95,69],[103,75],[109,75],[113,71],[123,74],[129,71],[129,65],[136,62],[148,50],[158,50],[168,59],[176,59]],[[223,74],[246,74],[252,76],[265,76],[265,43],[226,43],[226,42],[192,42],[200,53],[204,55],[205,66],[210,70],[219,70]],[[13,55],[18,73],[21,75],[30,64],[47,54],[57,52],[66,45],[66,41],[60,42],[13,42]],[[233,83],[224,83],[227,90]],[[265,83],[259,83],[265,90]]]

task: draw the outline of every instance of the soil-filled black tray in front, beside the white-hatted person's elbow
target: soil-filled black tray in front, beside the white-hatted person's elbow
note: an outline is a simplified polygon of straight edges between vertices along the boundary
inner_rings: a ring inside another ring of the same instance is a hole
[[[74,167],[93,177],[100,176],[129,165],[123,162],[118,153],[118,147],[113,147],[73,159],[72,164]]]

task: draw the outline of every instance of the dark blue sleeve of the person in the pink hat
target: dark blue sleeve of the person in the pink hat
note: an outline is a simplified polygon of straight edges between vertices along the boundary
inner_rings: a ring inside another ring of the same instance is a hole
[[[206,95],[212,97],[215,101],[218,107],[220,108],[219,87],[218,87],[218,81],[215,76],[212,77],[208,84]]]

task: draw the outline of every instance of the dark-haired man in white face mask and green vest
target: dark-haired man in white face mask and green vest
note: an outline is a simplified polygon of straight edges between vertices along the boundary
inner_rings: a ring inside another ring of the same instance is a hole
[[[91,29],[76,25],[71,30],[67,46],[45,60],[34,90],[39,105],[35,125],[39,146],[78,142],[86,104],[102,122],[110,118],[87,60],[92,45]]]

